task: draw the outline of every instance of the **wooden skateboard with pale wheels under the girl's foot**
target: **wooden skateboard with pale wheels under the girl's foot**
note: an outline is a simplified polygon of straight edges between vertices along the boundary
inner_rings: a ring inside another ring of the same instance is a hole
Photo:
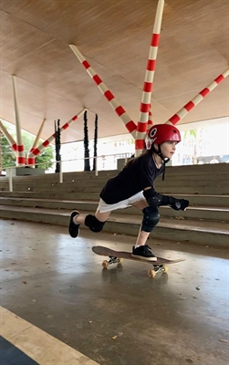
[[[150,276],[150,277],[155,277],[160,272],[167,273],[169,268],[166,265],[176,264],[176,263],[186,260],[185,258],[178,258],[176,260],[168,260],[163,257],[157,257],[157,261],[149,261],[144,258],[141,259],[141,258],[132,257],[130,252],[114,251],[114,250],[111,250],[110,248],[104,247],[102,245],[94,245],[92,247],[92,251],[97,255],[109,256],[109,261],[104,260],[102,262],[102,266],[104,268],[107,268],[109,265],[112,265],[112,264],[122,264],[124,258],[127,260],[133,260],[133,261],[139,261],[139,262],[151,264],[153,266],[153,269],[148,271],[148,276]]]

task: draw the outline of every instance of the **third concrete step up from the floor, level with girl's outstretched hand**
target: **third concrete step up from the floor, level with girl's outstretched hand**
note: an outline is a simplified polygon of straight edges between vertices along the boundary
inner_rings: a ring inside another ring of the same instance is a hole
[[[203,194],[178,194],[177,198],[189,200],[191,205],[228,207],[229,195],[203,195]],[[0,197],[26,198],[26,199],[54,199],[65,201],[95,201],[99,202],[99,193],[47,193],[47,192],[0,192]]]

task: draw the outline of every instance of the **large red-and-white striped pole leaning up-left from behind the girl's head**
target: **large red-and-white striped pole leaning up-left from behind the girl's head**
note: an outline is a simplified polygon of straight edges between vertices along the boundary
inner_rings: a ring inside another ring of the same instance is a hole
[[[116,99],[114,97],[114,95],[107,88],[107,86],[104,84],[104,82],[101,80],[101,78],[99,78],[99,75],[96,73],[96,71],[93,68],[91,68],[87,59],[85,57],[83,57],[83,55],[79,52],[78,47],[76,47],[75,45],[69,45],[69,47],[72,49],[72,51],[78,57],[78,60],[81,62],[81,64],[84,66],[84,68],[86,68],[88,75],[90,76],[90,78],[92,78],[95,81],[95,83],[97,84],[101,93],[109,101],[109,104],[111,105],[113,110],[116,111],[116,113],[120,117],[120,120],[122,120],[123,123],[125,124],[127,130],[131,133],[133,138],[135,138],[135,130],[136,130],[137,126],[134,123],[134,121],[130,119],[126,110],[124,110],[124,108],[122,108],[122,106],[120,105],[120,101],[118,101],[118,99]]]

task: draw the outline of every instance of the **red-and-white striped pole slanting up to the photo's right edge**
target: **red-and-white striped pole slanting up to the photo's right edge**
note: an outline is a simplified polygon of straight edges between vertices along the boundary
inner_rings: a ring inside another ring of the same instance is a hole
[[[204,88],[191,101],[184,105],[184,107],[176,114],[174,114],[169,120],[167,120],[166,123],[172,123],[173,125],[175,125],[176,123],[178,123],[179,120],[182,120],[182,118],[185,117],[185,115],[188,114],[190,110],[192,110],[197,104],[199,104],[199,102],[201,102],[203,98],[205,98],[211,91],[213,91],[216,86],[224,81],[224,78],[226,78],[228,75],[229,68],[227,68],[223,74],[219,75],[218,78],[215,78],[211,84]]]

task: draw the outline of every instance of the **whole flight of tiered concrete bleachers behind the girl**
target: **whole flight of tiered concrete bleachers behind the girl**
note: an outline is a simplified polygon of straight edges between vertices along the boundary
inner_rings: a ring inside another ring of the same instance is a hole
[[[72,210],[93,213],[99,192],[116,171],[65,172],[0,179],[0,217],[68,226]],[[161,207],[161,220],[151,237],[186,241],[200,245],[226,246],[229,243],[229,174],[226,163],[167,167],[165,181],[155,182],[160,193],[190,201],[185,212]],[[112,234],[137,235],[142,214],[131,207],[110,214],[104,230]]]

